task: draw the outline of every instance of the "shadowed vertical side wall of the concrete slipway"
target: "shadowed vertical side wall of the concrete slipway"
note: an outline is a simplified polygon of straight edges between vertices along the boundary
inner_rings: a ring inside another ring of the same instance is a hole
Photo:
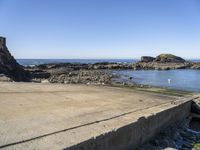
[[[192,100],[198,98],[178,99],[171,102],[173,107],[148,117],[141,117],[136,122],[123,126],[116,131],[101,134],[82,143],[66,148],[66,150],[129,150],[144,144],[163,128],[180,123],[189,117]]]

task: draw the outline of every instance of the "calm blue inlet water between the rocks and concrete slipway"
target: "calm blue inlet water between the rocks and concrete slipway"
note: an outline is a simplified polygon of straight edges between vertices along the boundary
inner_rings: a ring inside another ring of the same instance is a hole
[[[118,73],[124,79],[133,77],[139,84],[200,92],[200,70],[125,70]]]

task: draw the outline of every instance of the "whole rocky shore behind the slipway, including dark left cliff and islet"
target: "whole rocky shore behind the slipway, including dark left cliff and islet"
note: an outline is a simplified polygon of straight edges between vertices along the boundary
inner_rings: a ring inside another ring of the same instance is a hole
[[[0,81],[96,85],[128,84],[129,81],[124,83],[119,79],[119,75],[113,74],[115,70],[127,69],[200,69],[200,62],[189,62],[172,54],[161,54],[157,57],[142,56],[141,60],[136,63],[54,63],[32,67],[21,66],[10,54],[6,46],[6,39],[0,37]]]

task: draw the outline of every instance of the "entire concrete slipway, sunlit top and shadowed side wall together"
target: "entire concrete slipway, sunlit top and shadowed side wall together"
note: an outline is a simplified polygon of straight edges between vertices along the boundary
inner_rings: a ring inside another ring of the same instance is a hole
[[[0,83],[0,149],[134,149],[190,101],[114,87]]]

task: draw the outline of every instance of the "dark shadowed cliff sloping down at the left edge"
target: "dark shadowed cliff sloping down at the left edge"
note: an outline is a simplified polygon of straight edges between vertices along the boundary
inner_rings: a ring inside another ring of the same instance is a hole
[[[4,37],[0,37],[0,74],[14,81],[28,81],[28,73],[10,54]]]

